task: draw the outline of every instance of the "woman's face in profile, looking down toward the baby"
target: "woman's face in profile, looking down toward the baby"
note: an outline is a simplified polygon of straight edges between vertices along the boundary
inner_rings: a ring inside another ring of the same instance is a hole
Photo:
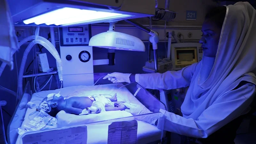
[[[211,20],[204,20],[202,26],[202,38],[199,43],[202,44],[204,55],[207,57],[215,57],[218,50],[221,28]]]

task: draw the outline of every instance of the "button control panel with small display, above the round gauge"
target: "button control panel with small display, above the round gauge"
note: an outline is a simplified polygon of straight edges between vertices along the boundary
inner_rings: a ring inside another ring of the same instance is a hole
[[[60,45],[88,45],[91,37],[91,25],[60,28]]]

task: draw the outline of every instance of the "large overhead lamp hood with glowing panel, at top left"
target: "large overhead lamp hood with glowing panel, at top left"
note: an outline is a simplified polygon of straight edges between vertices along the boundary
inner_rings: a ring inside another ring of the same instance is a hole
[[[71,26],[155,15],[155,0],[8,0],[15,25]]]

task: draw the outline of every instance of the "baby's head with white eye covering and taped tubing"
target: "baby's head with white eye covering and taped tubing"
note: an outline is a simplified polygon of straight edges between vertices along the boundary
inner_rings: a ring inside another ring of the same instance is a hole
[[[39,104],[36,111],[43,110],[50,116],[55,117],[58,112],[60,112],[62,108],[62,103],[64,102],[64,97],[60,94],[51,93],[45,97],[42,102]]]

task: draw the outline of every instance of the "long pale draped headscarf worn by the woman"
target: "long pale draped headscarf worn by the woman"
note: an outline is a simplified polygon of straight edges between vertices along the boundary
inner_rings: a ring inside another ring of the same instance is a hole
[[[256,84],[255,9],[248,2],[227,6],[215,60],[203,56],[181,106],[185,118],[196,120],[202,112],[241,81]],[[207,73],[207,66],[213,65]],[[243,78],[241,78],[243,77]]]

